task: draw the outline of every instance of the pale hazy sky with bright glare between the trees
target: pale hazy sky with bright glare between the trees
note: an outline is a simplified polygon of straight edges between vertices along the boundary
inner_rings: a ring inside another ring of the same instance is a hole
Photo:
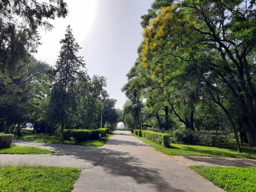
[[[82,47],[86,68],[90,76],[97,74],[108,78],[107,91],[117,99],[116,107],[122,109],[126,100],[121,87],[125,76],[137,58],[137,47],[142,40],[141,15],[146,14],[153,0],[66,0],[69,14],[52,21],[52,31],[41,32],[43,42],[34,55],[38,60],[55,65],[70,24],[74,37]]]

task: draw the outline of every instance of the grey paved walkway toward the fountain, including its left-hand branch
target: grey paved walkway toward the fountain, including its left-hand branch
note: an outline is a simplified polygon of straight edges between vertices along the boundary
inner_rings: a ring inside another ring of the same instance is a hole
[[[45,155],[0,155],[0,164],[83,169],[73,192],[223,192],[193,170],[156,151],[128,131],[115,131],[103,147],[14,140],[56,151]]]

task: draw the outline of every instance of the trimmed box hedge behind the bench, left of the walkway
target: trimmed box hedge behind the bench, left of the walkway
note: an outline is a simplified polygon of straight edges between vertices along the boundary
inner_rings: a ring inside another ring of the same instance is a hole
[[[76,143],[80,143],[88,140],[99,139],[99,134],[105,136],[107,134],[107,129],[65,129],[64,130],[64,140],[70,140],[73,137]]]

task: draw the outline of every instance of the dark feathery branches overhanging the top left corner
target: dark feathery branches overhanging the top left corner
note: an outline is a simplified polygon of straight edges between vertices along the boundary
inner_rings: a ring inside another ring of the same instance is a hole
[[[48,19],[66,17],[63,0],[5,0],[0,2],[0,68],[7,73],[36,52],[40,44],[40,27],[51,30]]]

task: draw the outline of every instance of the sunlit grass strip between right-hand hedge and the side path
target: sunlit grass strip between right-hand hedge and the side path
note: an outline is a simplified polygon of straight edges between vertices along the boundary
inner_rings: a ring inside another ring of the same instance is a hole
[[[133,135],[135,136],[135,135]],[[235,158],[248,158],[256,159],[256,149],[255,147],[242,147],[243,153],[238,153],[235,147],[230,149],[221,147],[206,147],[200,145],[183,145],[172,143],[171,148],[166,148],[156,143],[149,141],[143,137],[138,137],[140,140],[148,143],[151,147],[156,150],[162,151],[164,154],[168,155],[186,155],[186,156],[202,156],[202,157],[235,157]]]

